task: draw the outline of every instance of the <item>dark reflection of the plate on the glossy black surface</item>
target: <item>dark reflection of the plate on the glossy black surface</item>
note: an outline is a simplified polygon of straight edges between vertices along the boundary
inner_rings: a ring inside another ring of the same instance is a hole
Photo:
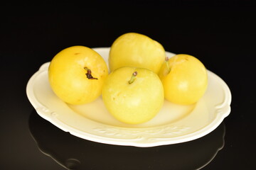
[[[33,111],[29,129],[38,148],[66,169],[201,169],[224,146],[225,124],[176,145],[125,147],[90,142],[64,132]]]

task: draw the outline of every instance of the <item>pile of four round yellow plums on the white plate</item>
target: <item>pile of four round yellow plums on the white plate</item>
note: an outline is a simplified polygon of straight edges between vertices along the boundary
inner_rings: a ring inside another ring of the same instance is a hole
[[[114,40],[105,60],[84,46],[68,47],[50,62],[48,77],[54,93],[80,105],[102,95],[107,110],[123,123],[139,124],[159,113],[164,98],[196,103],[208,86],[206,67],[191,55],[166,57],[164,47],[139,33]]]

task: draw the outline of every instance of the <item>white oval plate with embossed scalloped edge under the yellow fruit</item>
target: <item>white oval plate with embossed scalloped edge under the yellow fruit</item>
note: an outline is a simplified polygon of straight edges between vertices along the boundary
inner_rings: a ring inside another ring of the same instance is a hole
[[[94,50],[107,62],[110,47]],[[166,52],[166,56],[174,54]],[[196,105],[179,106],[165,101],[161,111],[149,122],[127,125],[112,118],[101,97],[81,106],[61,101],[48,83],[49,64],[43,64],[29,79],[28,99],[42,118],[85,140],[136,147],[171,145],[207,135],[230,113],[230,89],[220,77],[208,71],[208,89]]]

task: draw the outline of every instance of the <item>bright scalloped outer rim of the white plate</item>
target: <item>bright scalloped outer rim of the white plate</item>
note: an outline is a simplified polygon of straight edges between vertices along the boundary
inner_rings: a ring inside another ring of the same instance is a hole
[[[109,50],[110,47],[95,47],[92,49],[94,49],[95,51]],[[174,55],[174,53],[171,53],[171,52],[166,52],[166,53],[169,53],[169,55]],[[33,74],[33,76],[28,80],[28,84],[26,86],[26,94],[28,96],[28,100],[31,102],[33,108],[36,109],[36,112],[38,113],[38,115],[40,115],[42,118],[48,120],[50,123],[60,128],[61,130],[64,130],[65,132],[70,132],[71,135],[75,135],[85,140],[105,143],[109,145],[123,145],[123,146],[134,146],[134,147],[156,147],[160,145],[172,145],[172,144],[177,144],[181,142],[196,140],[200,137],[203,137],[204,135],[207,135],[208,133],[215,130],[215,128],[217,128],[218,125],[220,125],[220,123],[223,122],[224,118],[226,118],[230,114],[231,92],[230,92],[230,89],[228,88],[228,85],[225,84],[225,81],[223,81],[223,79],[218,77],[218,75],[207,70],[208,73],[213,74],[213,76],[220,81],[221,86],[225,91],[225,97],[227,98],[227,101],[223,106],[223,108],[225,108],[225,111],[221,113],[217,113],[217,115],[215,116],[215,119],[212,122],[210,122],[205,127],[197,130],[196,132],[191,132],[189,134],[176,136],[176,137],[166,137],[166,139],[164,140],[159,140],[159,141],[156,140],[155,142],[146,142],[146,143],[144,143],[141,140],[117,139],[112,137],[104,137],[101,135],[93,135],[88,132],[81,132],[79,130],[76,130],[75,128],[69,127],[67,125],[63,125],[62,123],[56,121],[53,117],[48,116],[48,114],[46,114],[46,111],[42,111],[38,109],[38,108],[43,108],[44,106],[43,106],[43,103],[40,103],[36,99],[35,94],[33,94],[33,84],[38,74],[40,74],[41,72],[46,72],[46,70],[48,69],[49,63],[50,62],[46,62],[42,64],[41,67],[38,69],[38,71],[35,74]],[[119,128],[119,127],[115,127],[115,128]],[[130,129],[130,128],[122,127],[121,129]],[[136,129],[136,128],[132,128],[132,129]],[[139,128],[139,129],[142,129],[142,128]],[[143,129],[151,129],[151,128],[143,128]]]

